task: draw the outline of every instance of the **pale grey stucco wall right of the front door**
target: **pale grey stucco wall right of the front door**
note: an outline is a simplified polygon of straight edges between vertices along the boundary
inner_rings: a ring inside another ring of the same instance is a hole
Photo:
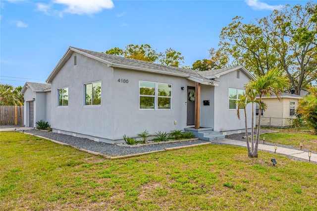
[[[245,129],[245,118],[241,109],[241,119],[237,117],[236,109],[229,109],[229,88],[244,90],[244,85],[250,80],[242,71],[237,78],[237,71],[220,76],[219,86],[214,87],[214,130],[237,131]],[[247,106],[248,128],[251,128],[251,105]]]

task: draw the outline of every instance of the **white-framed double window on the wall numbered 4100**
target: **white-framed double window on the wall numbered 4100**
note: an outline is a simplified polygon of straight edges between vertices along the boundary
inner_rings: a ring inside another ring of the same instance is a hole
[[[172,85],[140,81],[140,109],[171,109]]]

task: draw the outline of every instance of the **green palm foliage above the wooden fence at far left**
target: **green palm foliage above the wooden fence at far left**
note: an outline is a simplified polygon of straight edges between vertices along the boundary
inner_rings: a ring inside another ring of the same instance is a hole
[[[0,84],[0,106],[23,106],[22,87],[14,88],[9,84]]]

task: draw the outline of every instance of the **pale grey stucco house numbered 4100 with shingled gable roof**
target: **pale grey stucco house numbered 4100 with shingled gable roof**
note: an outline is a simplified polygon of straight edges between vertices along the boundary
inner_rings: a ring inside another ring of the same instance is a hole
[[[108,143],[144,130],[190,130],[213,140],[244,130],[235,101],[252,79],[243,66],[196,71],[69,47],[46,80],[50,100],[41,105],[51,114],[41,118],[53,132]],[[37,90],[23,89],[39,109],[30,97]]]

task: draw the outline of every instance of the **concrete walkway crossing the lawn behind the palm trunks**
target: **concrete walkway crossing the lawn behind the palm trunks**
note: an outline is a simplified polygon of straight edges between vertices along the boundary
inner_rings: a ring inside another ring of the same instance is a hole
[[[217,141],[213,141],[214,143],[219,143],[219,144],[227,144],[227,145],[234,145],[234,146],[241,146],[241,147],[247,147],[247,143],[243,141],[236,141],[232,139],[220,139]],[[267,152],[275,152],[274,146],[271,145],[265,145],[265,144],[259,144],[259,150],[264,150]],[[309,160],[308,157],[308,152],[304,152],[301,150],[294,150],[294,149],[289,149],[289,148],[283,148],[283,147],[277,147],[276,149],[276,154],[279,155],[287,155],[287,156],[292,156],[295,158],[301,158],[305,160]],[[312,153],[311,157],[312,162],[317,162],[317,154]]]

